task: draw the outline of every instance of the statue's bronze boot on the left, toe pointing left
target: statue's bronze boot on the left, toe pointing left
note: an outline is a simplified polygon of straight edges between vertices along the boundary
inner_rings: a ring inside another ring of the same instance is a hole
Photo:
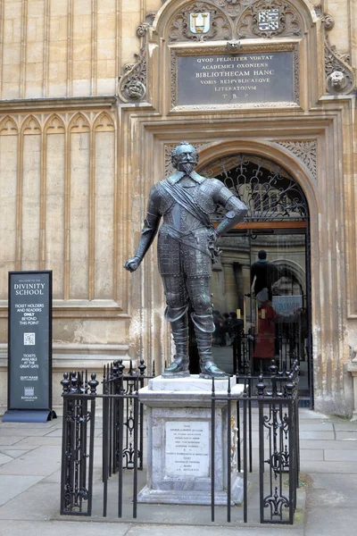
[[[186,377],[188,372],[188,318],[187,314],[171,323],[172,337],[175,342],[176,356],[170,366],[167,366],[162,373],[165,378],[173,376]]]

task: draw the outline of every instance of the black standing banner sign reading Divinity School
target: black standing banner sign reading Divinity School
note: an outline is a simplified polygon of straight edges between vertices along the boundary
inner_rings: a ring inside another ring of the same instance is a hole
[[[9,272],[8,409],[3,422],[52,411],[52,271]]]

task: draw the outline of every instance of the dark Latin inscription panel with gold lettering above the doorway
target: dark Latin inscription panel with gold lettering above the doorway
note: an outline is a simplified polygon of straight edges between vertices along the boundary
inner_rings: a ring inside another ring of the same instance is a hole
[[[293,51],[177,59],[176,105],[294,102]]]

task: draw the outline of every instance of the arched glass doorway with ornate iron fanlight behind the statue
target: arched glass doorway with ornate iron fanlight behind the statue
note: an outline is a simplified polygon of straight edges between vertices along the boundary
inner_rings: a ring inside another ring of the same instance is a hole
[[[271,358],[289,370],[297,359],[300,395],[311,405],[309,210],[303,189],[261,155],[225,155],[199,172],[220,179],[248,207],[245,222],[220,239],[220,262],[213,266],[214,359],[229,373],[258,373]]]

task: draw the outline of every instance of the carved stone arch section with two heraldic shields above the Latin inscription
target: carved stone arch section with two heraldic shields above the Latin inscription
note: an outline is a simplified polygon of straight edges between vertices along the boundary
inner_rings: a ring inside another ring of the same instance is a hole
[[[191,31],[192,13],[209,13],[209,29],[203,33]],[[170,42],[217,41],[302,35],[301,15],[286,0],[205,0],[187,4],[174,15],[168,39]]]

